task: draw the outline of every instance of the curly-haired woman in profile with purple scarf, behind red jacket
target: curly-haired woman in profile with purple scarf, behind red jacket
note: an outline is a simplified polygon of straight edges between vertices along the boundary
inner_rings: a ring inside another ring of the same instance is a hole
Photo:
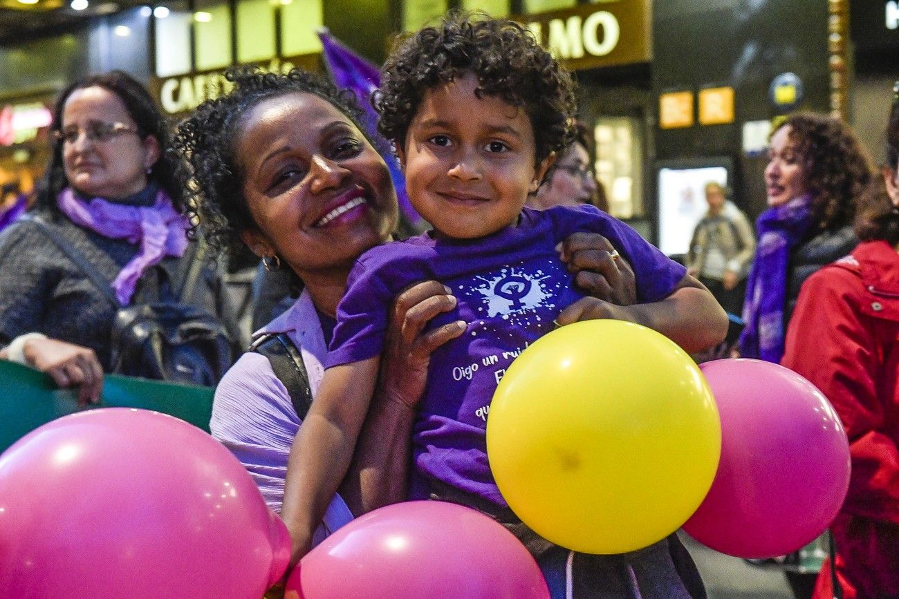
[[[871,181],[868,154],[839,119],[797,113],[774,130],[765,167],[769,208],[746,285],[740,355],[779,362],[799,287],[858,243],[856,200]]]

